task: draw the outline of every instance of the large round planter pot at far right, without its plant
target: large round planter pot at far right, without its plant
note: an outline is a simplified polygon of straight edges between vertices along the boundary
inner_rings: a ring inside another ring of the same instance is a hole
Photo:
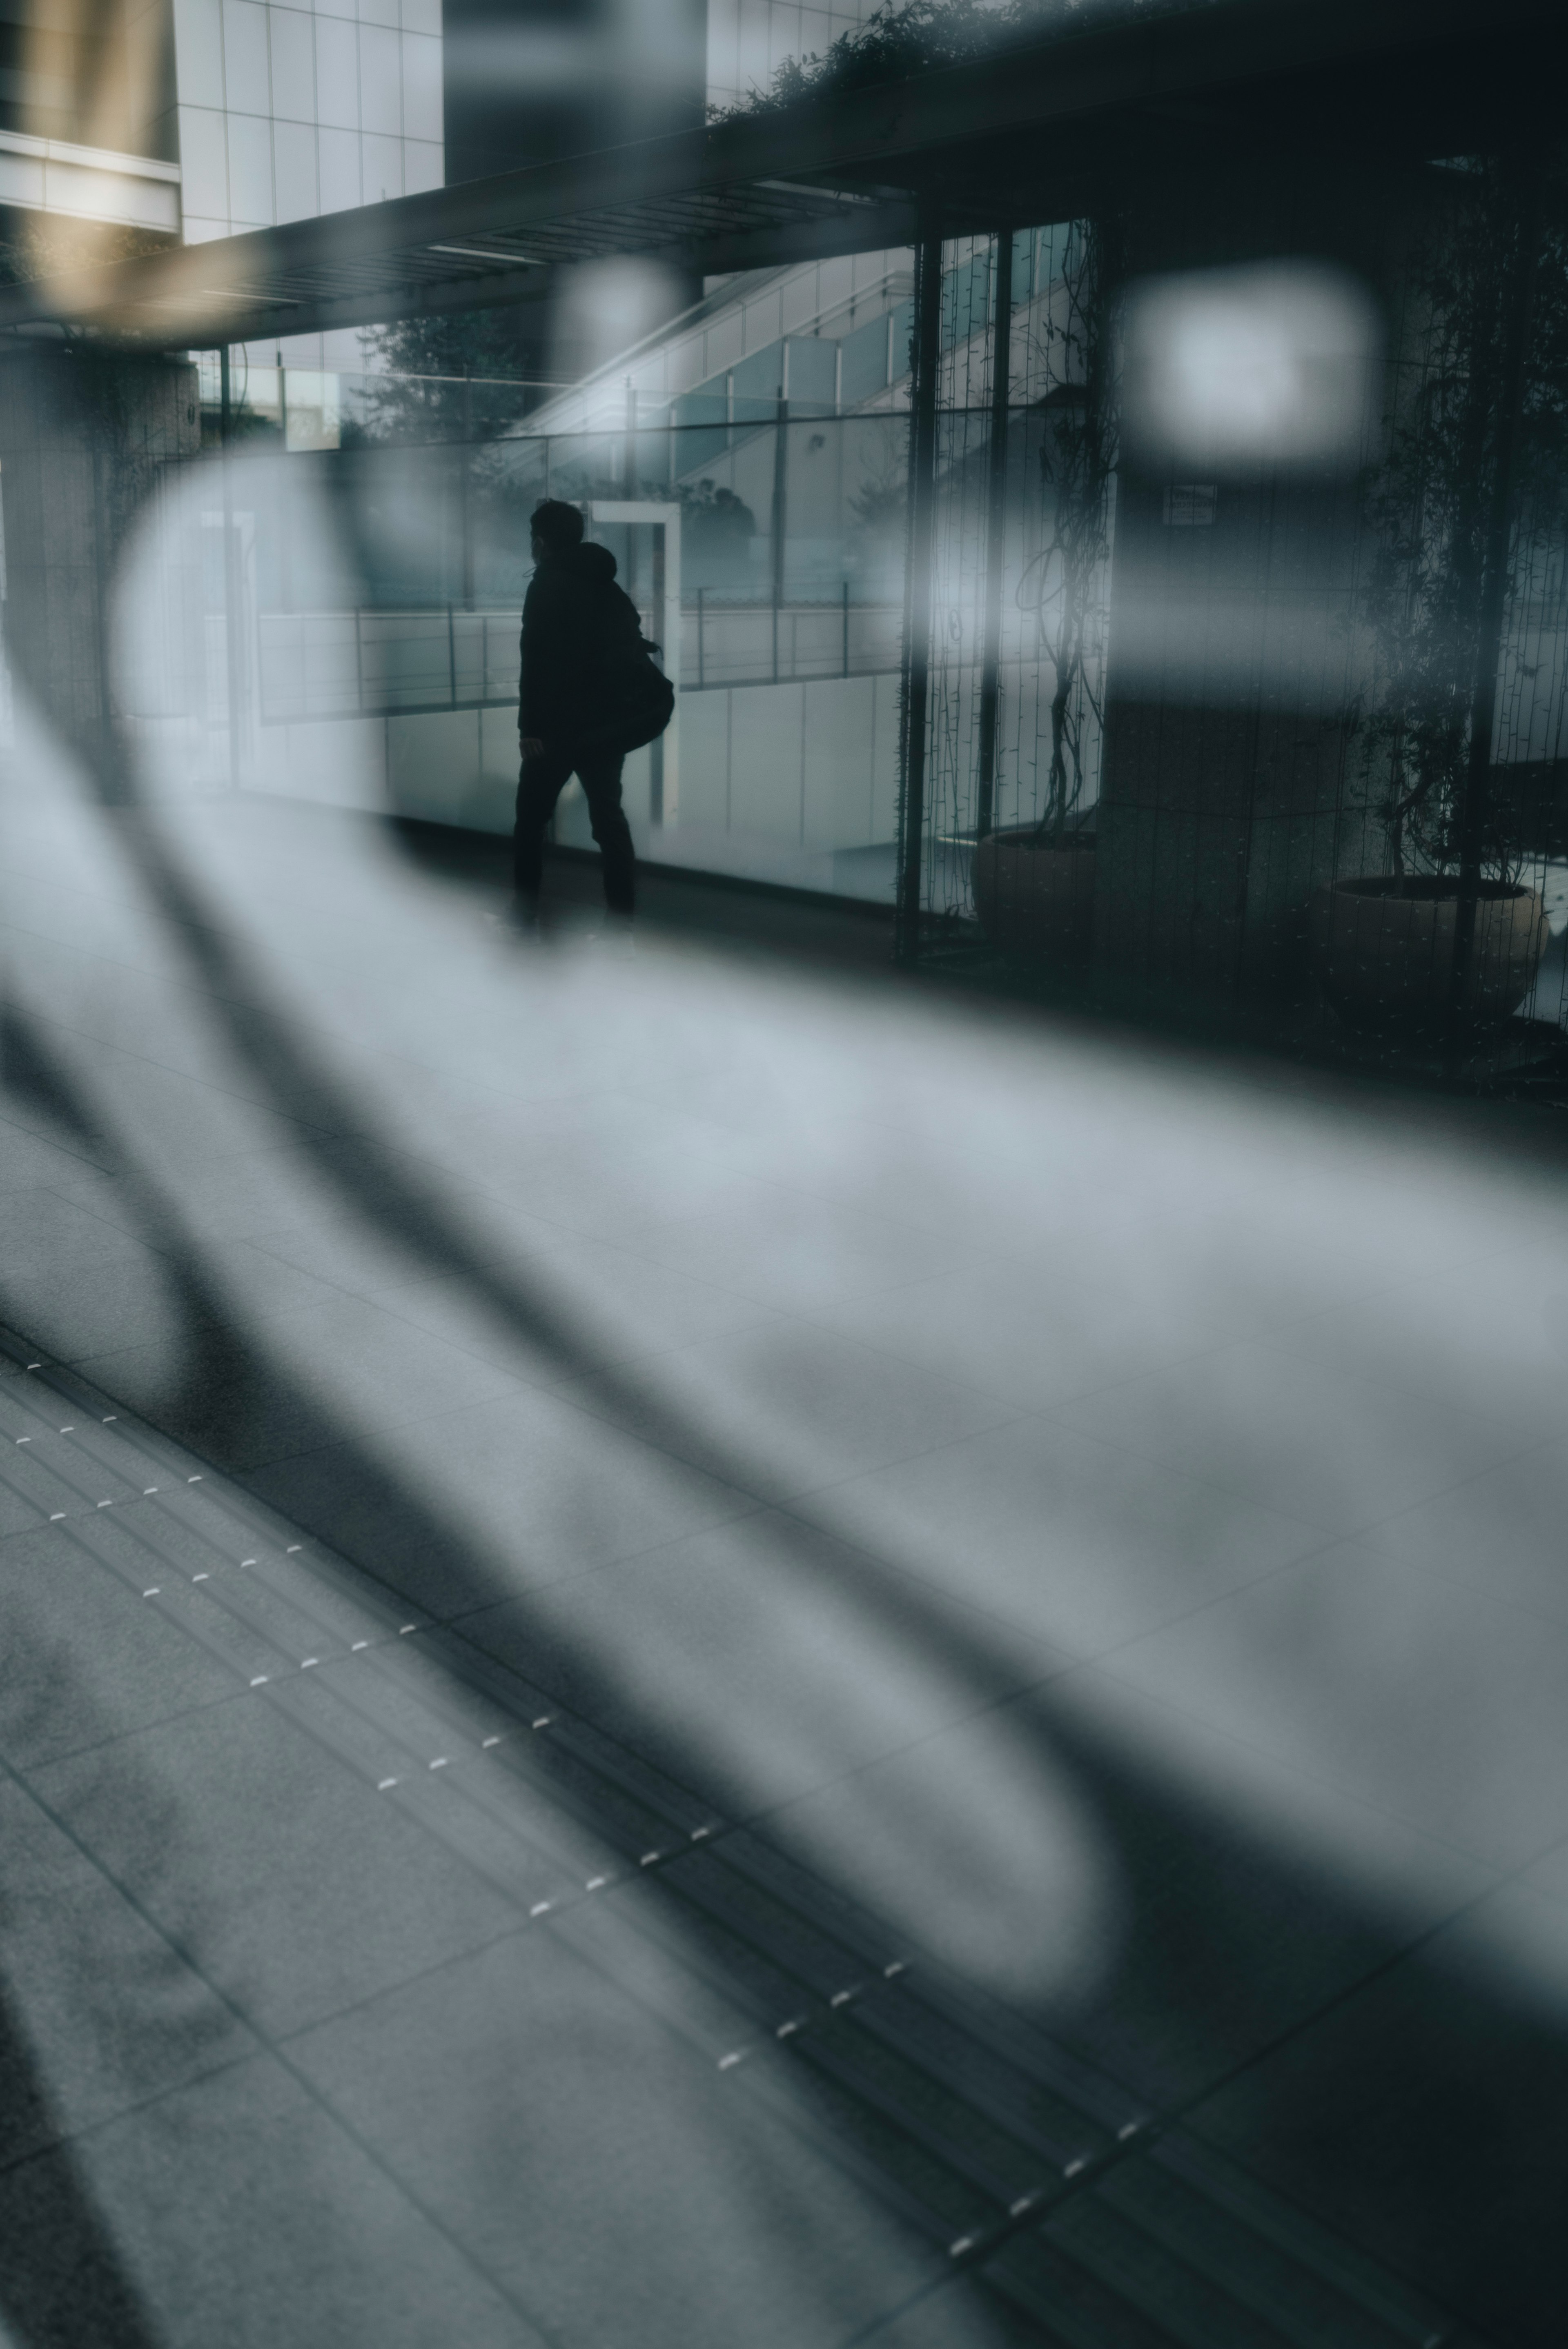
[[[1324,994],[1352,1027],[1432,1034],[1448,1019],[1458,883],[1441,874],[1335,881],[1312,904],[1312,954]],[[1547,944],[1540,893],[1483,881],[1465,984],[1465,1019],[1488,1027],[1519,1010]]]

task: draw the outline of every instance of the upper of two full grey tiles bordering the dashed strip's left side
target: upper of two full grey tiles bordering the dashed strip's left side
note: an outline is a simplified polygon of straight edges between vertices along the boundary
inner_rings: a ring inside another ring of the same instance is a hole
[[[308,1703],[301,1691],[299,1719]],[[299,1719],[244,1694],[122,1738],[113,1755],[33,1773],[85,1849],[273,2032],[515,1921],[510,1903]]]

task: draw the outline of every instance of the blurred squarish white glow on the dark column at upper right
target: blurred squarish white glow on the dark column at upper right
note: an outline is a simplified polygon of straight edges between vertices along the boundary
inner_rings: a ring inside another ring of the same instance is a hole
[[[1182,467],[1352,465],[1378,355],[1371,294],[1324,263],[1150,277],[1126,312],[1128,444]]]

